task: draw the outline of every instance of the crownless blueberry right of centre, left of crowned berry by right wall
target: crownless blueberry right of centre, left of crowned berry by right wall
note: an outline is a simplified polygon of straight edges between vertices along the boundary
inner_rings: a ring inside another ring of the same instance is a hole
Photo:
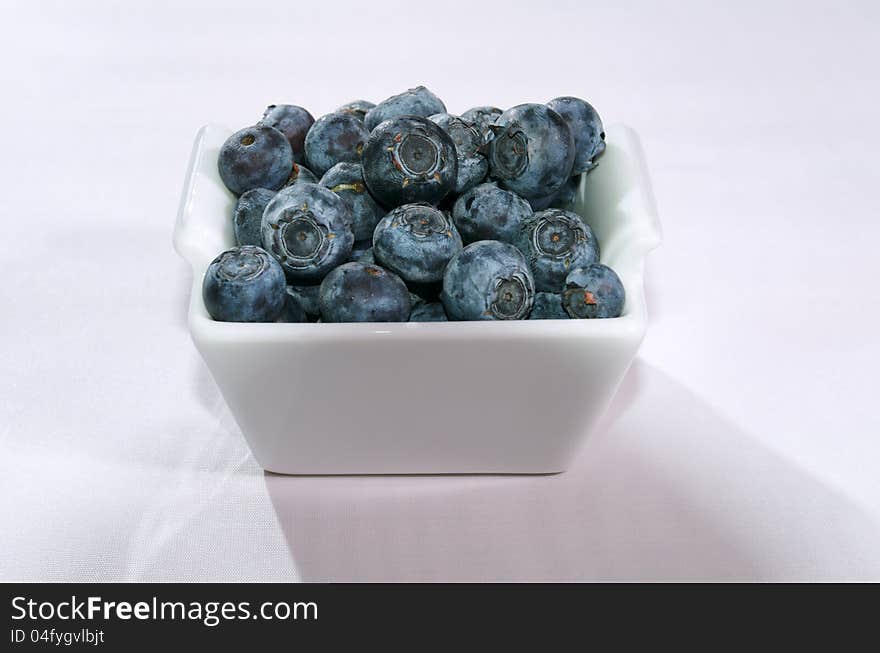
[[[515,244],[520,226],[531,216],[528,202],[496,184],[472,188],[452,207],[452,219],[466,243],[500,240]]]

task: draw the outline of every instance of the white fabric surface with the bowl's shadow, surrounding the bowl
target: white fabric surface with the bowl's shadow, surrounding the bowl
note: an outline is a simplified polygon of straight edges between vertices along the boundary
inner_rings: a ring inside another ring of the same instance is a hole
[[[880,10],[660,4],[4,3],[0,579],[880,580]],[[192,139],[418,83],[639,131],[640,357],[562,475],[266,476],[185,327]]]

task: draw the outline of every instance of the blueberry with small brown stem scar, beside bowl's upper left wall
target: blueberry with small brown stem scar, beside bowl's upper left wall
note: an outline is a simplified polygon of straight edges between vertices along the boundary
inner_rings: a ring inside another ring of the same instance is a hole
[[[226,188],[236,195],[252,188],[278,190],[290,175],[293,150],[273,127],[245,127],[226,139],[217,169]]]

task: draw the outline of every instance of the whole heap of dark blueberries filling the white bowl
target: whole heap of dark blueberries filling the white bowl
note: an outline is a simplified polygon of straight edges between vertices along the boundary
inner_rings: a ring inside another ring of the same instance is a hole
[[[205,305],[231,322],[617,317],[620,279],[565,208],[604,150],[573,97],[455,116],[419,86],[318,120],[272,105],[220,149],[238,246]]]

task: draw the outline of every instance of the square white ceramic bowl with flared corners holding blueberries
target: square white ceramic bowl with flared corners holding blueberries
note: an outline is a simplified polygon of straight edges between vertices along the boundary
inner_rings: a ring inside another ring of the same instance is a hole
[[[217,173],[231,133],[199,130],[174,245],[193,271],[193,342],[259,464],[284,474],[563,471],[647,324],[644,261],[660,227],[635,132],[607,130],[607,150],[573,207],[626,288],[620,318],[403,324],[210,318],[202,277],[235,244],[235,198]]]

